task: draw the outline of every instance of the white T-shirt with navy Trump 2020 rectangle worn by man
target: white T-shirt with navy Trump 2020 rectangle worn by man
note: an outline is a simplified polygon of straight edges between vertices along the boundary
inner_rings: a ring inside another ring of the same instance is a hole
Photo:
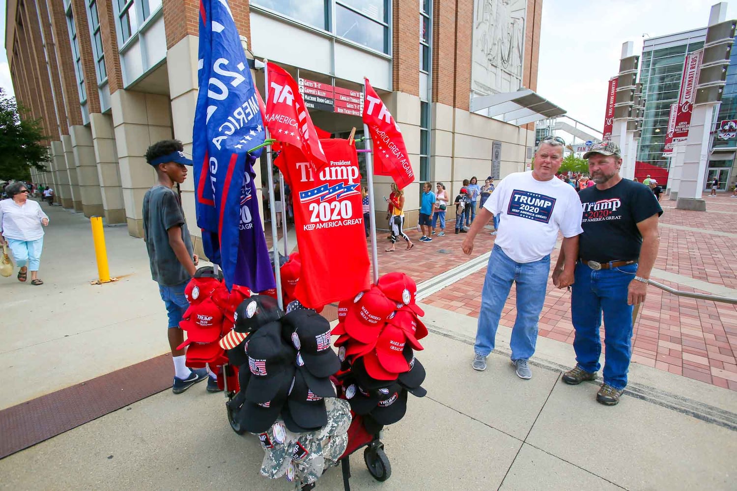
[[[532,171],[505,177],[483,208],[499,216],[495,244],[512,261],[530,263],[553,252],[558,231],[575,237],[581,228],[581,200],[570,184],[557,177],[539,181]]]

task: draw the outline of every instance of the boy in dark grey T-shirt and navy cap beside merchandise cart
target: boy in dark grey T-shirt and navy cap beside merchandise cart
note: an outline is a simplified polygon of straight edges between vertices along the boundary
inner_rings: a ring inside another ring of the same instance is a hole
[[[169,329],[167,337],[174,362],[172,392],[181,394],[194,384],[209,378],[208,391],[217,391],[217,377],[202,369],[186,366],[185,350],[178,349],[184,342],[179,328],[184,311],[189,307],[184,288],[195,275],[199,258],[192,250],[192,240],[184,219],[184,211],[174,184],[186,180],[184,146],[178,140],[163,140],[146,150],[146,162],[156,169],[157,183],[143,198],[143,230],[148,252],[151,278],[158,283],[158,292],[167,308]]]

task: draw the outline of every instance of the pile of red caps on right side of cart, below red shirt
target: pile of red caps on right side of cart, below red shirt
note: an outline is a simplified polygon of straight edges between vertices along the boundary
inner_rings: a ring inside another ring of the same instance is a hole
[[[416,292],[407,275],[388,273],[367,292],[338,304],[339,322],[332,334],[340,336],[335,342],[339,357],[351,370],[365,370],[376,381],[371,385],[391,385],[411,370],[405,346],[423,349],[419,339],[427,336],[427,328],[419,319],[425,312],[415,303]]]

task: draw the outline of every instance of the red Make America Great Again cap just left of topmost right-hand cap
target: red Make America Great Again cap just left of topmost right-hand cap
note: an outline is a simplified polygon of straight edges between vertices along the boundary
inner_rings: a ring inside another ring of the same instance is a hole
[[[373,342],[396,308],[397,304],[374,286],[368,292],[361,292],[354,297],[343,326],[353,339],[364,344]]]

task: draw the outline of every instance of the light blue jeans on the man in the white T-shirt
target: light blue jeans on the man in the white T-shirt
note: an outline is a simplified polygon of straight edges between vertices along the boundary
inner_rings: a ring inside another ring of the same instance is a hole
[[[535,353],[537,321],[545,302],[545,287],[551,270],[551,256],[539,261],[517,263],[495,245],[486,267],[486,278],[481,292],[481,313],[478,316],[475,353],[489,356],[499,327],[504,303],[509,297],[511,283],[517,285],[517,318],[511,330],[511,359],[527,359]]]

